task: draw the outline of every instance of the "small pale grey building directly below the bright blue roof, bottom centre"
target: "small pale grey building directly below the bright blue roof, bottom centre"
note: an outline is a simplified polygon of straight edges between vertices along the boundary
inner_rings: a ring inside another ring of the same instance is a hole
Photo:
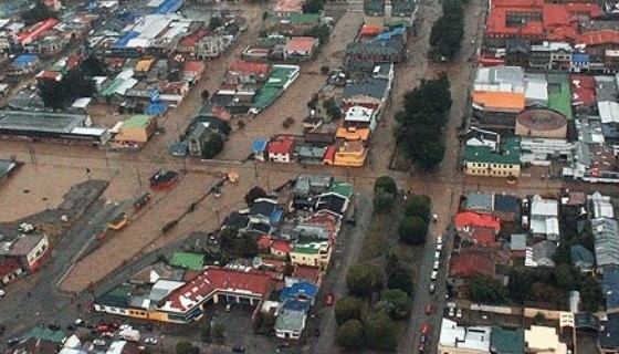
[[[307,321],[307,311],[311,303],[287,299],[277,311],[275,319],[275,335],[282,340],[298,340],[305,329]]]

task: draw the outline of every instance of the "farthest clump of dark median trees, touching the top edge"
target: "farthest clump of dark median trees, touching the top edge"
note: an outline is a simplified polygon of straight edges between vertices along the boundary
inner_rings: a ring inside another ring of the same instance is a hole
[[[430,32],[430,54],[434,61],[450,61],[460,52],[464,37],[464,11],[460,0],[443,2],[443,14]]]

